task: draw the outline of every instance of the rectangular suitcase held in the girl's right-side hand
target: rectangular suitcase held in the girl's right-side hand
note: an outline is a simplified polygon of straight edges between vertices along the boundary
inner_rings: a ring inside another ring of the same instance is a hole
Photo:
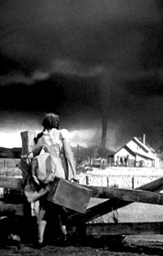
[[[91,189],[55,177],[47,199],[60,206],[84,213],[91,196]]]

